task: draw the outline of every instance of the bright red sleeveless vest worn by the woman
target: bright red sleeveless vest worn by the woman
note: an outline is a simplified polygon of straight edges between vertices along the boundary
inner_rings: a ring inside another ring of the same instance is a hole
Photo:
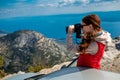
[[[100,69],[100,60],[103,57],[105,45],[97,42],[98,51],[95,55],[92,54],[80,54],[77,61],[77,66],[85,66],[90,68]]]

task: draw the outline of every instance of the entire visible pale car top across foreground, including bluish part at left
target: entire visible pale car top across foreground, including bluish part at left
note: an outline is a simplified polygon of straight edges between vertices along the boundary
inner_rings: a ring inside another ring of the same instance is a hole
[[[120,73],[97,70],[87,67],[69,67],[47,75],[26,73],[6,80],[120,80]]]

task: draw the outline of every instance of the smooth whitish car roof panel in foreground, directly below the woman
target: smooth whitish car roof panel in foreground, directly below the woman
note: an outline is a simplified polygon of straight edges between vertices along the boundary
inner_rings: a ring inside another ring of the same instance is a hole
[[[66,74],[49,80],[120,80],[120,74],[88,69],[81,72]]]

